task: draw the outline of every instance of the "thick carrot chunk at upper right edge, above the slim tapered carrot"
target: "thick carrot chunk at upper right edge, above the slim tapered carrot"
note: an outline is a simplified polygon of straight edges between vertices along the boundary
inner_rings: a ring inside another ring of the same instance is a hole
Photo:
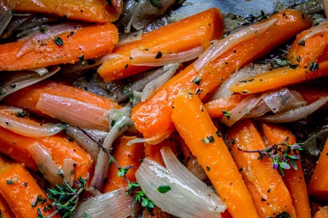
[[[312,35],[313,33],[314,35]],[[304,37],[306,37],[305,40]],[[326,60],[324,57],[327,56],[327,42],[328,22],[325,21],[298,34],[286,54],[286,58],[290,60],[291,64],[301,66],[308,66],[311,61],[322,62]]]

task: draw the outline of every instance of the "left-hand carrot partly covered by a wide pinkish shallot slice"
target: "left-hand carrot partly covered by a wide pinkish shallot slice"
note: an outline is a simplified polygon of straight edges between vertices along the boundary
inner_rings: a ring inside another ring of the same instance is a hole
[[[26,108],[38,115],[44,115],[35,108],[41,93],[72,98],[77,101],[103,108],[105,110],[121,108],[118,103],[95,95],[91,92],[48,80],[28,86],[10,94],[9,96],[6,96],[3,99],[3,104],[12,105],[19,108]]]

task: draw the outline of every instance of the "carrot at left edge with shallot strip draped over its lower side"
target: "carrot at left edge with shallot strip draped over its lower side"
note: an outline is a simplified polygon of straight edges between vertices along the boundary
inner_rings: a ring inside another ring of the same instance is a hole
[[[65,158],[75,161],[74,178],[85,178],[86,173],[92,173],[93,161],[91,156],[74,141],[70,141],[64,134],[59,133],[50,137],[31,138],[16,134],[0,127],[0,152],[11,157],[26,167],[37,170],[37,166],[28,153],[30,144],[39,142],[45,150],[49,151],[53,161],[61,168]]]

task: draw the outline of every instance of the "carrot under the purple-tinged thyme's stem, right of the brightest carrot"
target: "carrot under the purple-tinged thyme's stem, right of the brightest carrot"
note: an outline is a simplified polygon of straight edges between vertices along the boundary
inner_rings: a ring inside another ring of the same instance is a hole
[[[265,143],[257,127],[250,119],[240,120],[227,132],[232,155],[240,169],[261,218],[276,217],[288,212],[296,217],[291,195],[281,175],[272,168],[272,161],[259,161],[257,153],[245,153],[265,149]]]

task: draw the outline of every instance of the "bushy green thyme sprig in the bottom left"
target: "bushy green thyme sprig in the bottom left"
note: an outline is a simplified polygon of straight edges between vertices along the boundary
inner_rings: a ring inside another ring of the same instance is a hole
[[[63,176],[63,173],[60,171],[58,174]],[[55,200],[54,202],[52,202],[52,205],[54,206],[54,208],[56,208],[56,210],[54,210],[47,217],[43,216],[40,218],[50,218],[54,214],[58,214],[58,213],[63,218],[69,217],[71,213],[76,209],[79,196],[85,190],[88,179],[89,179],[89,174],[87,173],[85,180],[82,177],[80,177],[78,178],[78,181],[74,181],[76,188],[73,188],[68,184],[68,182],[63,177],[64,184],[61,185],[56,184],[54,189],[48,189],[48,191],[50,192],[48,198]]]

